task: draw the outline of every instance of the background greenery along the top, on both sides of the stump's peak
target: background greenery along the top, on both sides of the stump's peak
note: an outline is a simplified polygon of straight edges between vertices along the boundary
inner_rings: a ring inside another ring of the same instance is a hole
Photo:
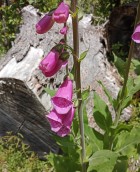
[[[12,43],[19,32],[19,26],[22,22],[21,9],[30,4],[41,12],[56,8],[61,0],[2,0],[0,3],[0,56],[5,54],[12,46]],[[118,1],[101,0],[80,0],[80,9],[84,13],[94,13],[97,16],[96,23],[105,21],[108,18],[111,9]],[[132,0],[123,0],[122,3],[133,2]]]

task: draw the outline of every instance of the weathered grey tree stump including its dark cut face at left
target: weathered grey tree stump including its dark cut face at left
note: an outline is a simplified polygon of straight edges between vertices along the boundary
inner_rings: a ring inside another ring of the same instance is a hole
[[[46,78],[38,69],[44,54],[59,42],[62,36],[59,30],[63,25],[55,24],[43,35],[35,32],[39,20],[38,12],[32,6],[23,9],[23,24],[14,46],[0,63],[0,134],[6,131],[20,132],[37,151],[58,152],[58,146],[52,140],[52,132],[45,119],[51,108],[50,96],[43,91],[44,86],[57,89],[65,76],[60,70],[55,76]],[[68,43],[72,45],[71,19]],[[106,49],[102,44],[102,27],[92,26],[90,16],[85,16],[79,23],[80,52],[87,49],[88,55],[81,63],[82,88],[96,90],[105,101],[98,80],[101,80],[113,97],[120,87],[119,75],[106,58]],[[69,69],[72,67],[70,58]],[[92,115],[92,104],[88,106]]]

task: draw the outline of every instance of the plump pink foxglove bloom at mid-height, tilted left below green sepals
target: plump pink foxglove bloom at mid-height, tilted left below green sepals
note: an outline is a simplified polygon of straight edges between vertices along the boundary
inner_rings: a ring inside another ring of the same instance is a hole
[[[52,49],[49,54],[41,61],[39,69],[46,77],[51,77],[58,72],[61,67],[65,67],[68,61],[59,58],[59,53]]]

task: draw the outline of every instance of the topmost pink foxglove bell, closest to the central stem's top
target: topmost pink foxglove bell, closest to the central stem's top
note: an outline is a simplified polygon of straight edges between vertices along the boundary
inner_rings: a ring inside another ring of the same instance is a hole
[[[57,23],[65,23],[69,17],[69,6],[61,2],[53,13],[53,19]]]

